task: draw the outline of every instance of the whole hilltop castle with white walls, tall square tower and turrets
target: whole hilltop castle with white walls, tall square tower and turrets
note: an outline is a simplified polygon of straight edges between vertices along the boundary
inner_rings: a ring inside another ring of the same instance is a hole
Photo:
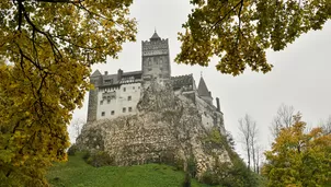
[[[92,73],[90,81],[94,90],[89,94],[88,122],[137,114],[144,89],[151,82],[170,82],[175,94],[186,96],[199,108],[204,126],[217,126],[225,133],[219,100],[216,98],[214,106],[212,92],[204,79],[201,78],[196,87],[192,74],[171,77],[168,42],[161,39],[157,32],[149,40],[141,42],[142,61],[139,71],[124,72],[119,69],[116,74],[109,74],[107,71],[102,74],[99,70]]]

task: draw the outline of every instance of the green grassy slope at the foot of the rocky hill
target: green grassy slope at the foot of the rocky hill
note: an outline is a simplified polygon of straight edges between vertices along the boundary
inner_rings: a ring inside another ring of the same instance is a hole
[[[93,167],[81,154],[69,156],[68,162],[57,163],[49,168],[47,179],[52,186],[66,187],[180,187],[184,173],[162,164],[135,166]],[[193,187],[207,187],[192,179]]]

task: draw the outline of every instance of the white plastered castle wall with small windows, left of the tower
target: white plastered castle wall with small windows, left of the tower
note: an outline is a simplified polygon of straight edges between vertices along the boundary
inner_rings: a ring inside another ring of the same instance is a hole
[[[96,120],[136,114],[137,103],[140,98],[140,83],[99,89]],[[129,110],[129,108],[132,108],[132,110]]]

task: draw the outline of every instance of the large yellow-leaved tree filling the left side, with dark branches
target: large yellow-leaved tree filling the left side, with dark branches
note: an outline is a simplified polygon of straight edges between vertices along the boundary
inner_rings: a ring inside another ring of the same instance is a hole
[[[44,186],[66,160],[67,125],[90,89],[91,65],[135,40],[132,0],[0,1],[0,180]]]

